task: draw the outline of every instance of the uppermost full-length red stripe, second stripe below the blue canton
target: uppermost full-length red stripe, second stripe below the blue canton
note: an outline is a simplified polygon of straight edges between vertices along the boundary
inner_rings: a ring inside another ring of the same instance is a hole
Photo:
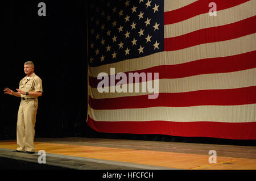
[[[182,77],[189,77],[189,76],[200,75],[200,74],[228,73],[232,71],[240,71],[240,70],[256,68],[255,57],[256,57],[256,50],[254,50],[253,52],[237,54],[234,56],[206,58],[202,60],[196,60],[196,61],[187,62],[184,64],[177,64],[177,65],[160,65],[160,66],[155,66],[153,68],[148,68],[148,69],[143,69],[138,71],[130,71],[130,72],[131,73],[138,72],[139,74],[141,74],[142,72],[146,74],[158,72],[159,79],[182,78]],[[125,74],[128,78],[129,72],[126,72]],[[109,79],[109,85],[110,85],[110,76],[108,77],[108,79]],[[154,76],[153,76],[153,79],[154,79]],[[98,80],[97,77],[89,76],[89,85],[91,87],[96,88],[100,81],[102,80],[101,79]],[[118,81],[119,80],[115,80],[115,84]],[[150,81],[150,79],[148,79],[148,81]],[[141,79],[139,80],[139,82],[142,82]]]

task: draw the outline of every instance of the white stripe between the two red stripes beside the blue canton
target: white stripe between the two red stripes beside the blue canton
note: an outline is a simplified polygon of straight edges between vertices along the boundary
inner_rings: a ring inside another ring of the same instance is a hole
[[[183,22],[164,26],[164,37],[175,37],[201,30],[238,22],[256,15],[256,1],[248,1],[239,6],[217,11],[217,16],[209,16],[208,13],[197,15]]]

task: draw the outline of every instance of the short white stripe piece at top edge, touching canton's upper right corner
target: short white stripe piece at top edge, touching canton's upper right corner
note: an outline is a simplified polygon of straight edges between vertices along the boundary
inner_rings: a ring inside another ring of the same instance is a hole
[[[196,1],[197,0],[164,0],[164,12],[180,9]]]

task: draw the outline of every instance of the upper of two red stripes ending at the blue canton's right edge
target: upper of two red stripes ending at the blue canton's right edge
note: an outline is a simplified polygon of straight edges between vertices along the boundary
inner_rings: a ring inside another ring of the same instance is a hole
[[[247,1],[250,0],[199,0],[190,5],[181,7],[180,9],[164,12],[164,24],[177,23],[200,14],[208,13],[212,8],[209,7],[210,2],[215,2],[217,11],[220,11],[240,5]]]

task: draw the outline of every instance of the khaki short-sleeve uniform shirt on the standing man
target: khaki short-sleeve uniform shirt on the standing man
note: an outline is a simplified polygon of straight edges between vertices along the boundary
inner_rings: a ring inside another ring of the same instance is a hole
[[[43,92],[42,79],[40,79],[40,77],[38,77],[38,75],[36,75],[35,73],[32,73],[29,79],[27,76],[21,79],[21,81],[19,82],[19,89],[25,92]],[[20,96],[25,98],[34,98],[30,95],[20,94]]]

